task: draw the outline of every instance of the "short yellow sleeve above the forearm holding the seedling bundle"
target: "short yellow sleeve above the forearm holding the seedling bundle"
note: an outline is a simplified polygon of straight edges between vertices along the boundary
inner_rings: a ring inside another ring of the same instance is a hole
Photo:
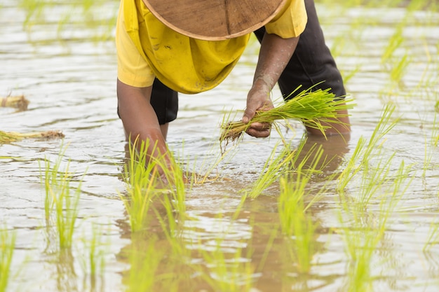
[[[304,0],[290,0],[282,11],[265,25],[265,29],[269,34],[289,39],[302,34],[307,20]]]

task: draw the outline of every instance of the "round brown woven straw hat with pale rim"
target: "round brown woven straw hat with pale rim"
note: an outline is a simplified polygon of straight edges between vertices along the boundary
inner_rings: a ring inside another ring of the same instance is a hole
[[[287,0],[144,0],[163,24],[194,39],[219,41],[266,25]]]

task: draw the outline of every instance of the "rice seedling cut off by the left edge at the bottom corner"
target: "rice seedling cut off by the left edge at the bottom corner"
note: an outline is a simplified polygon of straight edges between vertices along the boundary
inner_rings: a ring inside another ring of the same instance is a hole
[[[0,229],[0,292],[8,288],[9,273],[15,249],[15,232]]]

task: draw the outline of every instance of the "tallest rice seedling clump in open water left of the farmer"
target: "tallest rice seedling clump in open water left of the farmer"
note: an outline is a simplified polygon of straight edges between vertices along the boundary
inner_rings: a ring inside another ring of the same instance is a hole
[[[75,222],[79,213],[79,197],[81,195],[81,181],[76,186],[74,193],[71,193],[72,187],[70,183],[72,182],[73,175],[69,172],[69,162],[67,162],[64,170],[60,169],[64,153],[65,149],[61,148],[58,159],[53,165],[46,158],[44,173],[46,222],[48,222],[50,214],[55,213],[61,249],[72,246]]]

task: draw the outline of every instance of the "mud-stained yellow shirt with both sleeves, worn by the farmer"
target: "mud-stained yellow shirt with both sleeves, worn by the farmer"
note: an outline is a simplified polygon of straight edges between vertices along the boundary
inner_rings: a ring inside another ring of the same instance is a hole
[[[303,0],[287,1],[265,25],[284,39],[299,36],[306,25]],[[118,78],[134,87],[148,87],[158,78],[175,91],[197,93],[219,85],[248,44],[250,34],[224,41],[202,41],[163,25],[142,0],[121,0],[116,26]]]

